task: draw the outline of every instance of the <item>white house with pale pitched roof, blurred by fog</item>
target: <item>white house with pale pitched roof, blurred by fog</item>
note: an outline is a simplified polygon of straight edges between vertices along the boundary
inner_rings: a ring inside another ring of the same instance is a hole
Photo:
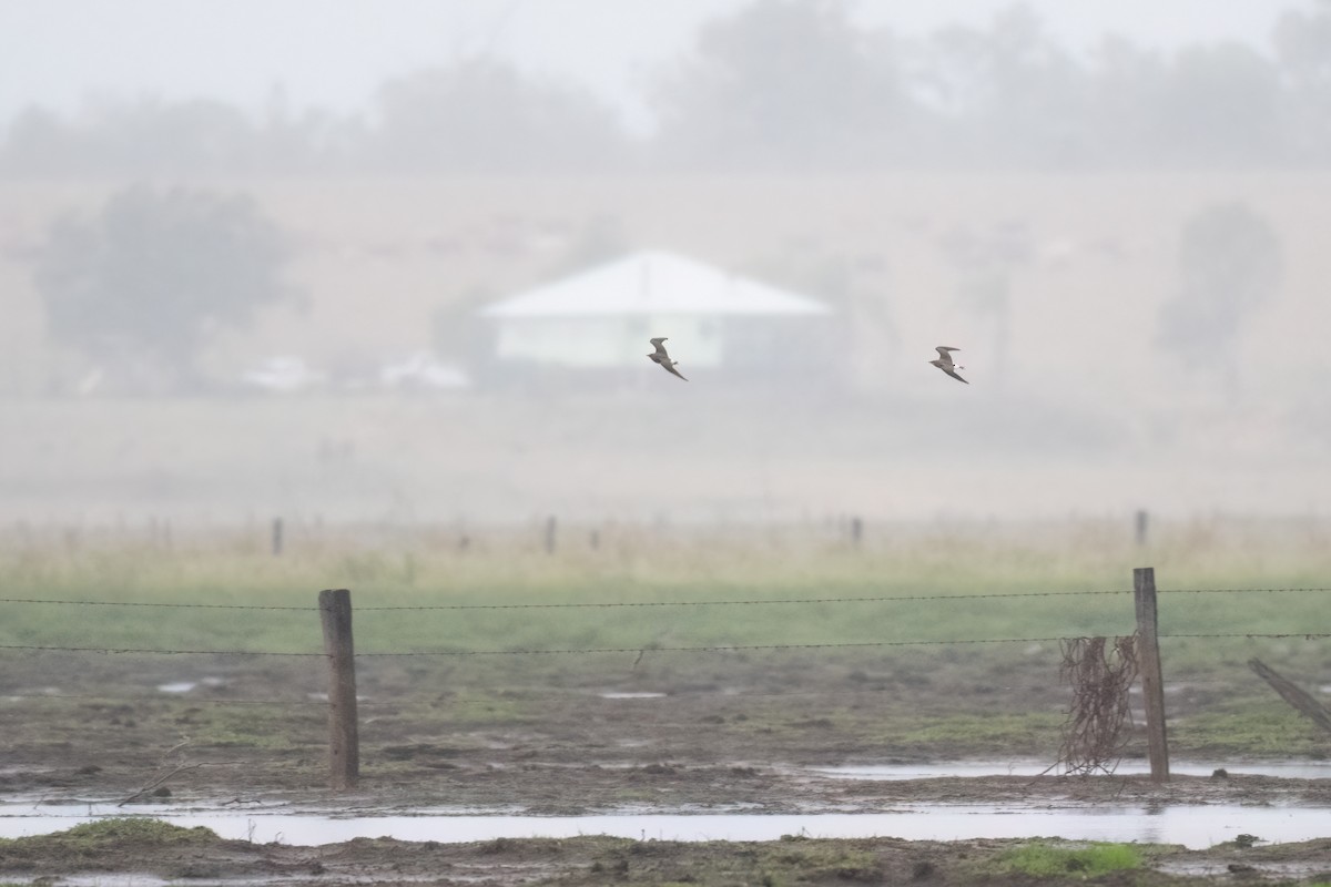
[[[650,370],[647,340],[667,336],[684,375],[699,370],[744,378],[792,356],[804,370],[825,359],[817,343],[827,336],[816,326],[827,327],[832,310],[696,259],[650,250],[502,299],[479,315],[494,324],[492,356],[500,372]],[[776,359],[776,351],[799,343],[804,347],[793,355]]]

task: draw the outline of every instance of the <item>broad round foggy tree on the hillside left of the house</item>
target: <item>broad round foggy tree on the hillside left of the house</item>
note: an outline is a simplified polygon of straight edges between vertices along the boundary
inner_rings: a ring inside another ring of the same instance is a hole
[[[36,269],[51,335],[133,384],[197,382],[200,346],[282,298],[286,249],[246,197],[133,186],[56,222]]]

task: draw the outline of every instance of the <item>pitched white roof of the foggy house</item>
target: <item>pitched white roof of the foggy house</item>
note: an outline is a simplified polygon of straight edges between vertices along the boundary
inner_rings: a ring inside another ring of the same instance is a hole
[[[663,251],[634,253],[480,310],[491,318],[828,313],[803,295]]]

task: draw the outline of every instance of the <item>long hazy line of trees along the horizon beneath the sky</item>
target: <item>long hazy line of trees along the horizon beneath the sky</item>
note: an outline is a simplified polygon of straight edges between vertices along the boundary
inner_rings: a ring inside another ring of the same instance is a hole
[[[1106,36],[1070,52],[1024,5],[922,39],[833,0],[755,0],[705,24],[631,136],[586,90],[492,57],[385,84],[365,116],[260,114],[210,100],[33,108],[0,130],[0,174],[855,172],[1331,164],[1331,0],[1288,11],[1272,55]]]

